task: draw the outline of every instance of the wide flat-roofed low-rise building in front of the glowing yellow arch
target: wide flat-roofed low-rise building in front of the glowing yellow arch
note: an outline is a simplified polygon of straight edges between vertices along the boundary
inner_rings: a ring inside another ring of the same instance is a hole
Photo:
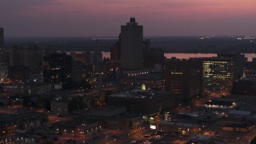
[[[132,90],[107,96],[111,106],[124,106],[128,112],[156,114],[175,104],[175,95],[168,91]]]

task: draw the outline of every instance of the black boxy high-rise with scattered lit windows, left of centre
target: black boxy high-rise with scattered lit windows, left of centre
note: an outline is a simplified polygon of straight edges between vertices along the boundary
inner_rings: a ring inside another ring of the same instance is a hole
[[[50,54],[43,58],[44,82],[53,82],[67,88],[72,81],[72,57],[66,54]]]

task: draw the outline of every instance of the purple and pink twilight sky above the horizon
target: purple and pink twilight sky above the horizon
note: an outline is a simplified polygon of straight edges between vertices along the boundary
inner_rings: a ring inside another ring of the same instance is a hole
[[[0,0],[6,37],[256,35],[256,0]]]

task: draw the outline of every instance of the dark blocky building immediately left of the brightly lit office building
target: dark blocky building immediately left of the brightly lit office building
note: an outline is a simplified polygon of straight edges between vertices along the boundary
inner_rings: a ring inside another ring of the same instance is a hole
[[[194,59],[166,62],[165,90],[181,94],[183,100],[202,96],[202,66]]]

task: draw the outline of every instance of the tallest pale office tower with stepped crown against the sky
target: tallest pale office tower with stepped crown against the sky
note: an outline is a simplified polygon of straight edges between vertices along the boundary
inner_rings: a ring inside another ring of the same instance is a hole
[[[126,26],[121,26],[121,68],[143,68],[143,26],[138,26],[135,18],[130,18]]]

